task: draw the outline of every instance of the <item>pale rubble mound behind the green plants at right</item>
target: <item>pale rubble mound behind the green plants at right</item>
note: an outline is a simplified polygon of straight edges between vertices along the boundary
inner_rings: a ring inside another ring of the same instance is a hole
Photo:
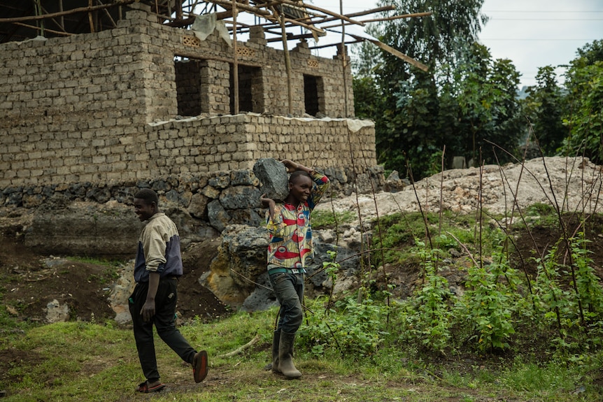
[[[451,210],[470,213],[480,206],[492,214],[510,213],[534,203],[564,211],[601,212],[601,166],[587,158],[545,157],[524,164],[453,169],[406,186],[400,192],[348,196],[319,204],[317,210],[361,211],[363,220],[399,211]],[[415,191],[416,190],[416,191]]]

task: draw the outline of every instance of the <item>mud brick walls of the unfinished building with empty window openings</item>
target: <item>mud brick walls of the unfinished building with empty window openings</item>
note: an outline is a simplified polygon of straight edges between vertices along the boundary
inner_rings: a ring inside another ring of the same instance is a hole
[[[250,168],[260,157],[376,166],[374,124],[348,129],[357,120],[343,55],[291,50],[292,115],[309,107],[332,119],[278,117],[288,115],[283,51],[254,29],[237,43],[241,114],[230,115],[233,48],[158,24],[143,4],[126,17],[111,30],[0,44],[1,192]]]

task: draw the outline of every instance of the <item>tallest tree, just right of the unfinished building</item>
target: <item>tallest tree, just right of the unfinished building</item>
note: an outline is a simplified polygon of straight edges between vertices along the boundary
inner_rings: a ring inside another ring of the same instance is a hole
[[[384,43],[430,66],[429,73],[422,73],[385,52],[377,60],[374,53],[363,57],[371,59],[373,66],[357,64],[357,71],[374,78],[372,84],[381,94],[372,118],[376,122],[379,161],[386,168],[404,172],[409,162],[416,177],[421,177],[430,173],[430,166],[439,158],[443,145],[440,128],[445,127],[449,134],[455,126],[455,117],[450,113],[455,109],[452,103],[446,103],[443,109],[446,117],[440,111],[441,87],[451,78],[446,76],[450,70],[442,67],[457,65],[462,50],[476,40],[480,22],[485,20],[480,13],[482,4],[483,0],[379,2],[380,6],[395,6],[399,14],[433,13],[428,17],[383,22],[371,31]],[[366,109],[357,99],[357,110]]]

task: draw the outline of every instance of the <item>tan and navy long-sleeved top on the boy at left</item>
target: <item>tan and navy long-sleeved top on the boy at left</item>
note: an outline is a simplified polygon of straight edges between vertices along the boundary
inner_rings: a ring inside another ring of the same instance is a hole
[[[152,215],[139,238],[134,280],[148,282],[149,272],[157,272],[161,278],[183,273],[178,228],[164,213]]]

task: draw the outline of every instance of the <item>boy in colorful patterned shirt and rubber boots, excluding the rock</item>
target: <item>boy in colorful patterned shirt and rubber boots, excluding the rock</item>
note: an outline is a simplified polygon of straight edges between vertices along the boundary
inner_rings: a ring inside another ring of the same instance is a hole
[[[329,178],[289,159],[281,161],[291,173],[289,194],[283,203],[260,197],[267,206],[268,273],[281,303],[281,314],[272,338],[272,372],[285,378],[302,376],[293,364],[295,333],[303,320],[306,258],[313,256],[310,213],[329,187]]]

